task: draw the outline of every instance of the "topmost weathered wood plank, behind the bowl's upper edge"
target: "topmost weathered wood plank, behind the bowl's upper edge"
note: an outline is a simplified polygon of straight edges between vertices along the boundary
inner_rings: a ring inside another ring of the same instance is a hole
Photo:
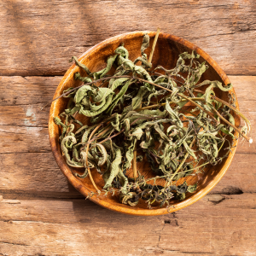
[[[251,75],[255,10],[253,0],[2,1],[0,73],[62,75],[72,55],[120,33],[160,26],[197,44],[226,73]]]

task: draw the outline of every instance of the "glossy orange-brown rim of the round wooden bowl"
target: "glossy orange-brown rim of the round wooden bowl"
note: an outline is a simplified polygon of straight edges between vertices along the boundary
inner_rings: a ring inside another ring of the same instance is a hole
[[[138,36],[143,36],[143,34],[148,33],[150,37],[154,36],[156,32],[151,32],[151,31],[137,31],[137,32],[127,32],[123,34],[119,34],[115,37],[108,38],[99,44],[96,44],[95,46],[91,47],[87,51],[84,52],[83,55],[79,57],[79,61],[83,61],[85,57],[89,56],[91,51],[95,51],[96,49],[101,49],[102,46],[112,43],[116,40],[119,40],[120,38],[131,38],[133,36],[134,38]],[[212,59],[210,55],[208,55],[204,50],[196,46],[195,44],[190,43],[189,41],[179,38],[177,36],[174,36],[172,34],[160,32],[160,37],[170,39],[174,42],[177,42],[178,44],[183,44],[185,47],[189,49],[194,49],[196,53],[201,55],[201,57],[209,63],[209,65],[212,66],[212,68],[218,73],[220,78],[223,80],[224,84],[229,84],[230,79],[228,79],[227,75],[224,73],[224,71],[221,69],[221,67],[218,66],[217,62]],[[61,79],[60,84],[58,85],[57,89],[55,90],[55,96],[53,99],[56,97],[58,91],[60,91],[65,84],[67,84],[68,80],[71,79],[73,76],[74,69],[76,68],[75,64],[73,64],[67,72],[65,73],[64,77]],[[231,91],[236,95],[234,88],[231,89]],[[236,97],[237,99],[237,97]],[[58,101],[58,100],[57,100]],[[61,169],[61,172],[64,174],[65,177],[67,177],[67,180],[69,183],[73,184],[73,187],[77,189],[82,195],[85,197],[89,195],[91,192],[90,189],[87,189],[84,187],[84,184],[79,181],[76,177],[73,176],[73,173],[70,171],[70,169],[67,166],[66,161],[62,157],[62,155],[59,152],[59,147],[56,143],[55,140],[55,129],[58,129],[58,127],[55,125],[53,117],[55,117],[55,106],[56,102],[52,102],[49,110],[49,143],[50,147],[52,149],[52,152],[54,154],[55,160]],[[239,110],[238,106],[238,101],[236,100],[236,108]],[[235,132],[235,135],[237,137],[238,132]],[[131,215],[137,215],[137,216],[155,216],[155,215],[162,215],[170,212],[175,212],[177,210],[183,209],[184,207],[188,207],[189,205],[195,203],[196,201],[200,200],[204,195],[207,195],[220,181],[220,179],[224,176],[224,173],[227,172],[231,161],[233,160],[234,154],[236,153],[236,145],[237,145],[237,140],[234,143],[234,150],[232,150],[225,160],[224,166],[221,168],[221,170],[218,172],[218,174],[212,179],[210,183],[208,183],[207,187],[204,189],[201,189],[199,192],[196,192],[195,195],[191,195],[188,199],[185,199],[184,201],[180,201],[177,203],[175,207],[171,207],[168,210],[163,207],[163,208],[157,208],[157,209],[134,209],[132,207],[127,208],[125,205],[114,205],[108,201],[104,201],[100,199],[98,196],[92,196],[90,197],[90,201],[95,202],[96,204],[108,208],[110,210],[113,210],[115,212],[122,212],[125,214],[131,214]]]

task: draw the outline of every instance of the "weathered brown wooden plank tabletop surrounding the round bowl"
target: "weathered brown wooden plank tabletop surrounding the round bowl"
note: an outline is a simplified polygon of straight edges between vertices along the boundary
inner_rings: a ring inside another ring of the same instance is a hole
[[[255,143],[239,144],[201,201],[134,217],[85,201],[67,183],[49,148],[49,108],[39,108],[71,56],[160,26],[218,62],[255,127],[254,0],[2,0],[0,20],[0,255],[256,255]]]

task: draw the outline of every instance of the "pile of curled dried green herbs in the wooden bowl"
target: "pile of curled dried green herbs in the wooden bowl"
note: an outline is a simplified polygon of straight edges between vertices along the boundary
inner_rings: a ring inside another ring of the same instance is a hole
[[[250,122],[236,110],[234,95],[230,94],[229,102],[215,96],[215,89],[228,91],[232,84],[200,82],[208,67],[195,51],[179,55],[171,70],[161,66],[152,70],[144,53],[148,45],[146,34],[142,55],[135,61],[129,60],[124,45],[119,46],[108,57],[107,66],[95,73],[73,57],[87,76],[75,74],[84,85],[64,91],[62,96],[69,97],[69,102],[55,117],[55,124],[61,127],[61,150],[67,164],[84,170],[81,175],[75,173],[76,177],[89,175],[101,193],[90,174],[95,168],[104,179],[104,193],[118,190],[122,203],[135,206],[143,199],[149,208],[154,202],[168,207],[172,199],[183,200],[187,192],[196,190],[196,184],[177,185],[180,178],[217,165],[230,153],[228,137],[234,139],[233,131],[251,140],[247,137]],[[112,67],[116,69],[110,77]],[[203,85],[207,89],[198,90]],[[235,126],[234,113],[245,120],[241,130]],[[90,125],[76,119],[78,114],[90,117]],[[225,142],[229,146],[219,156]],[[154,177],[145,179],[137,172],[137,161],[142,160],[148,161]],[[133,177],[127,177],[131,166]],[[163,186],[157,185],[158,178],[166,180]],[[149,180],[154,184],[148,184]]]

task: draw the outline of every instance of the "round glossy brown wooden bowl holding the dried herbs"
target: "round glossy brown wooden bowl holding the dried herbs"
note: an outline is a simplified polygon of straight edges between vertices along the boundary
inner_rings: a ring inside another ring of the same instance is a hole
[[[109,55],[113,55],[114,49],[119,47],[121,43],[125,44],[125,48],[129,50],[130,60],[134,61],[137,56],[139,56],[141,44],[143,41],[143,35],[146,32],[130,32],[125,33],[113,38],[108,38],[100,44],[96,44],[96,46],[87,50],[84,55],[79,58],[79,61],[84,63],[87,67],[90,68],[91,72],[96,72],[101,70],[103,67],[106,67],[106,62]],[[147,55],[149,55],[153,41],[155,32],[147,32],[150,37],[150,46],[146,50]],[[218,80],[223,84],[229,84],[230,80],[223,72],[223,70],[218,67],[218,64],[212,60],[212,58],[207,55],[202,49],[195,46],[195,44],[191,44],[188,41],[178,38],[176,36],[162,33],[160,32],[153,56],[153,67],[157,65],[162,65],[167,69],[171,69],[176,66],[178,55],[183,53],[184,51],[188,51],[189,53],[195,49],[195,51],[201,55],[200,61],[207,61],[209,68],[207,72],[203,74],[201,80],[209,79],[209,80]],[[61,83],[58,85],[57,90],[55,91],[55,97],[60,96],[63,90],[67,90],[69,87],[76,87],[80,84],[79,81],[73,79],[73,75],[76,72],[80,72],[83,74],[83,71],[80,67],[77,67],[73,64],[67,70],[67,73],[61,80]],[[220,90],[216,90],[216,96],[223,99],[224,101],[228,101],[229,92],[223,92]],[[235,94],[234,89],[230,90],[230,92]],[[67,177],[68,181],[73,184],[74,188],[79,190],[81,194],[87,196],[91,191],[96,192],[93,185],[90,182],[90,178],[86,177],[81,179],[79,177],[74,177],[74,172],[82,173],[83,171],[79,168],[73,168],[67,166],[65,158],[61,154],[61,148],[59,143],[60,129],[58,125],[54,123],[54,117],[58,116],[64,109],[67,107],[67,98],[61,97],[60,99],[52,102],[50,113],[49,113],[49,142],[52,148],[52,152],[55,156],[55,160],[58,166],[61,168],[61,172]],[[236,108],[238,109],[238,103],[236,101]],[[236,126],[240,125],[239,117],[235,115]],[[86,121],[86,120],[85,120]],[[237,137],[237,132],[235,136]],[[237,140],[234,142],[234,146],[236,146]],[[229,156],[225,158],[222,163],[217,166],[209,166],[205,172],[200,173],[195,176],[184,177],[188,184],[198,183],[198,187],[196,191],[192,194],[187,194],[186,199],[184,201],[172,201],[172,206],[168,211],[166,207],[153,207],[152,209],[148,209],[147,204],[143,201],[140,201],[136,207],[131,207],[124,205],[119,202],[118,195],[108,195],[105,197],[102,195],[93,195],[90,200],[96,202],[102,207],[106,207],[115,212],[123,212],[132,215],[143,215],[143,216],[152,216],[152,215],[160,215],[166,214],[168,212],[174,212],[183,207],[188,207],[193,204],[195,201],[198,201],[219,182],[219,180],[224,176],[224,173],[227,171],[230,166],[231,160],[235,154],[236,147],[230,152]],[[224,152],[220,151],[219,153],[224,154]],[[143,160],[141,163],[137,163],[137,169],[145,176],[145,177],[153,177],[152,171],[148,166],[147,160]],[[104,186],[103,179],[101,175],[96,172],[96,170],[92,169],[92,177],[99,189],[102,189]],[[129,170],[128,175],[132,173]],[[54,178],[54,177],[53,177]]]

